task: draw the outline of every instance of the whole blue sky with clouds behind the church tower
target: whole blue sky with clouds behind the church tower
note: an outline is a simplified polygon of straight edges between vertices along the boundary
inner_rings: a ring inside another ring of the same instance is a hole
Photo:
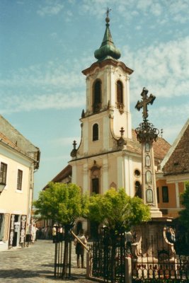
[[[1,0],[0,112],[41,151],[35,198],[67,166],[72,142],[79,144],[85,108],[83,69],[96,59],[105,32],[134,70],[134,109],[145,86],[156,96],[149,120],[173,143],[189,113],[188,0]]]

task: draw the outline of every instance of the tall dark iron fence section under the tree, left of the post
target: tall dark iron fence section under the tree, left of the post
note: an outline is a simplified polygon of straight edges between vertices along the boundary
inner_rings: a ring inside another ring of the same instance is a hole
[[[104,282],[125,283],[125,258],[131,254],[129,240],[127,233],[102,229],[91,247],[92,276]]]

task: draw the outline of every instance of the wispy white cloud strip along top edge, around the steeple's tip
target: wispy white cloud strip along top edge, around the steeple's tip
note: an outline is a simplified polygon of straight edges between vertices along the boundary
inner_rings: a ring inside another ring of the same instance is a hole
[[[131,21],[133,16],[144,13],[147,17],[159,17],[161,21],[168,23],[175,21],[186,23],[189,18],[189,2],[188,0],[83,0],[80,5],[80,13],[90,13],[97,18],[102,17],[105,12],[103,8],[112,8],[118,11],[126,21]]]

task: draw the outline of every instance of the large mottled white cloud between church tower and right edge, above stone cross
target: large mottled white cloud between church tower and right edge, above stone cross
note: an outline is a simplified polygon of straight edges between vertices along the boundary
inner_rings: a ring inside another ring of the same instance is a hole
[[[158,96],[189,97],[189,37],[141,50],[123,48],[122,61],[134,69],[131,76],[132,101],[143,86]]]

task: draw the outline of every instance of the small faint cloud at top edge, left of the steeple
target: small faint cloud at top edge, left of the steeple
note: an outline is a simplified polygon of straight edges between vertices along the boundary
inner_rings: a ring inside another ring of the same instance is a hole
[[[62,4],[62,1],[56,1],[56,0],[46,0],[44,6],[40,5],[37,13],[40,16],[54,16],[57,15],[62,9],[64,8],[64,5]]]

